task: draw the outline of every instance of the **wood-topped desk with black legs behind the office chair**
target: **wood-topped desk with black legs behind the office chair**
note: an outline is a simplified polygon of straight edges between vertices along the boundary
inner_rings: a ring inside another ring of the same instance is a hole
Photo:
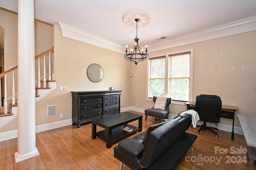
[[[187,110],[192,109],[192,107],[195,107],[196,102],[186,102],[184,103],[187,105]],[[226,106],[222,105],[220,117],[233,119],[233,126],[232,126],[232,132],[231,132],[231,140],[235,140],[235,134],[234,134],[234,117],[235,117],[235,111],[238,110],[237,106]]]

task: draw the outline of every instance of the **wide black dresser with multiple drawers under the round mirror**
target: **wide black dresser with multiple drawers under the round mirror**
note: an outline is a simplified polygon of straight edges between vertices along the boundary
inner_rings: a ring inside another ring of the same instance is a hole
[[[72,93],[72,121],[81,123],[120,113],[122,90],[79,91]]]

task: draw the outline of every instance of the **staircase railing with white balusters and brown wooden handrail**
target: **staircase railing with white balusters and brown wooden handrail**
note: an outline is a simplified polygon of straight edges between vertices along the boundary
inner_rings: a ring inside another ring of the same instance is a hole
[[[54,52],[54,47],[51,49],[37,55],[35,57],[35,60],[38,59],[38,87],[41,87],[41,76],[40,76],[40,57],[44,56],[44,76],[43,76],[43,86],[46,87],[46,57],[45,55],[49,53],[49,76],[48,80],[52,80],[52,73],[51,73],[51,53]],[[10,68],[9,70],[6,70],[2,73],[0,73],[0,79],[4,78],[4,114],[8,113],[8,102],[7,102],[7,85],[6,85],[6,74],[9,72],[12,72],[12,104],[15,104],[15,82],[14,82],[14,70],[18,68],[17,66],[14,66]],[[0,92],[2,92],[2,86],[0,86]],[[2,95],[0,96],[2,101]],[[2,102],[1,102],[2,103]],[[2,106],[2,104],[1,104]]]

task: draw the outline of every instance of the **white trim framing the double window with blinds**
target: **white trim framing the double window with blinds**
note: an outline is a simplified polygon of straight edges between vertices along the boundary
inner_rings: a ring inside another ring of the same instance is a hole
[[[165,56],[165,89],[164,89],[164,94],[165,96],[168,96],[168,77],[169,77],[169,72],[168,72],[168,63],[169,63],[169,55],[175,55],[178,53],[185,53],[185,52],[189,52],[190,51],[190,96],[189,96],[189,101],[192,101],[193,99],[193,65],[194,65],[194,48],[191,49],[185,49],[185,50],[180,50],[180,51],[173,51],[170,53],[164,53],[164,54],[159,54],[159,55],[153,55],[153,56],[149,56],[150,58],[156,58],[156,57],[161,57],[161,56]],[[147,87],[146,87],[146,100],[148,101],[153,101],[152,98],[148,97],[148,79],[149,79],[149,59],[147,60]],[[172,100],[172,104],[181,104],[184,105],[184,102],[178,102],[175,100]]]

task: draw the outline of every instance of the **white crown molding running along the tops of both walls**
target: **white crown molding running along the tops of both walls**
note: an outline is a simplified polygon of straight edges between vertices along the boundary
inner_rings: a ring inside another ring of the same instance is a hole
[[[86,31],[82,31],[62,22],[58,22],[57,24],[60,26],[63,37],[68,37],[82,41],[84,43],[96,45],[98,47],[116,51],[118,53],[124,53],[124,47],[118,43],[109,41],[108,39],[104,39]],[[149,44],[148,47],[150,49],[149,52],[154,52],[255,30],[256,16],[252,16],[242,20],[237,20],[223,25],[218,25],[216,27],[211,27],[186,35],[174,37],[172,39],[159,40],[157,43]]]

